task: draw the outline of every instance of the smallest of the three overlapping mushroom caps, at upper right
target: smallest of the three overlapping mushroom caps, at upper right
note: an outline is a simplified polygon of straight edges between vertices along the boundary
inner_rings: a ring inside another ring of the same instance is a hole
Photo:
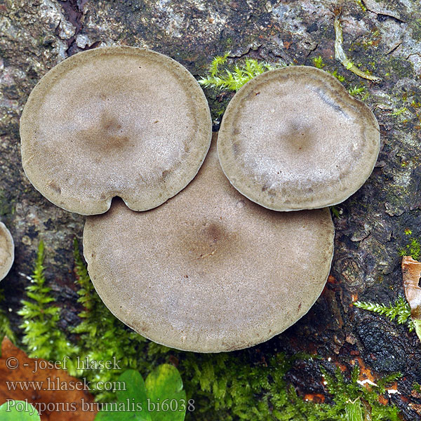
[[[229,102],[218,137],[232,185],[274,210],[344,201],[367,180],[379,149],[373,112],[335,77],[307,66],[248,81]]]

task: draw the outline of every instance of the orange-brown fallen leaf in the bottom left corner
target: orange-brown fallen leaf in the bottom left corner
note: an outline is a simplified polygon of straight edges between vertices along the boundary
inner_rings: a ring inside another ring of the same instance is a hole
[[[83,380],[53,368],[53,363],[47,365],[48,361],[29,358],[5,337],[1,343],[0,404],[8,399],[27,400],[38,410],[41,421],[93,420],[96,411],[89,411],[95,407],[93,396],[83,390],[87,389]]]

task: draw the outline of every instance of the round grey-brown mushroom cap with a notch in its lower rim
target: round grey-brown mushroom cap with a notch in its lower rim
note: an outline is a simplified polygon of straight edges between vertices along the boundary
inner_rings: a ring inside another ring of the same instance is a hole
[[[196,175],[212,121],[196,79],[180,63],[135,47],[73,55],[29,95],[20,120],[22,165],[55,205],[104,213],[120,196],[133,210],[159,206]]]

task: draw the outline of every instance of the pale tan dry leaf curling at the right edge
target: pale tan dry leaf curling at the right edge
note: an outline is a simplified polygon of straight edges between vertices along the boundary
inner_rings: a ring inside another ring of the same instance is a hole
[[[402,258],[403,289],[410,307],[410,317],[415,325],[415,332],[421,340],[421,262],[410,256]]]

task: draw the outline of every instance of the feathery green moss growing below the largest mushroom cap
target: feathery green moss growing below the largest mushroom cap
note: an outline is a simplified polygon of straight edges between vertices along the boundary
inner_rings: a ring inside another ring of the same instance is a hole
[[[123,370],[133,368],[147,375],[163,362],[176,362],[182,374],[187,399],[194,400],[194,420],[198,421],[336,421],[347,420],[350,411],[358,410],[359,401],[366,402],[373,420],[397,420],[395,406],[383,406],[386,380],[370,390],[357,382],[358,370],[350,377],[339,371],[324,380],[332,404],[303,401],[286,381],[286,373],[296,355],[287,357],[276,352],[267,363],[244,359],[245,354],[195,354],[180,352],[150,342],[127,328],[105,307],[89,279],[86,265],[74,243],[76,283],[83,311],[81,323],[72,332],[58,328],[60,309],[55,305],[44,276],[44,244],[40,243],[28,300],[20,311],[24,328],[23,342],[30,355],[44,359],[70,359],[70,366],[79,377],[86,377],[98,401],[115,399],[113,391],[101,390],[98,382],[114,382]],[[77,343],[68,338],[76,334]],[[241,356],[242,355],[242,356]],[[121,370],[77,370],[76,362],[89,357],[91,361],[119,361]],[[316,362],[314,362],[316,363]],[[383,385],[383,386],[382,386]],[[355,408],[354,408],[355,407]],[[187,420],[189,414],[187,414]]]

